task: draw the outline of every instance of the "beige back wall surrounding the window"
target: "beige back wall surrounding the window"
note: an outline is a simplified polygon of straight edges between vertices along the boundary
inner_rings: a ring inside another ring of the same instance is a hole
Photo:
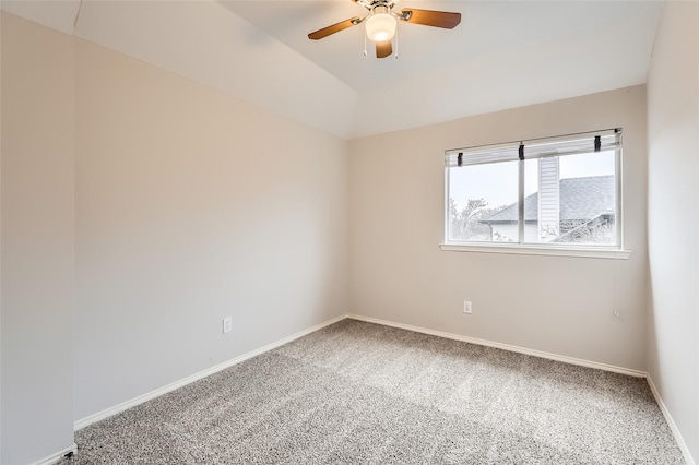
[[[439,249],[443,151],[624,128],[628,260]],[[351,309],[360,315],[609,363],[645,366],[645,87],[351,142]],[[463,313],[473,301],[473,314]],[[613,318],[621,312],[623,321]]]

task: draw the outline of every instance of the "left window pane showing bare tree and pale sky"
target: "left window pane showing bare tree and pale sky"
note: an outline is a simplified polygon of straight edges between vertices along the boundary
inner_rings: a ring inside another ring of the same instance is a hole
[[[449,168],[449,241],[519,241],[518,163]]]

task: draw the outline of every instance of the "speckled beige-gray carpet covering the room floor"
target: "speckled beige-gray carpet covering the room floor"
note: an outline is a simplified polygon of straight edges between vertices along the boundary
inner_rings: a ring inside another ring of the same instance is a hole
[[[75,442],[63,463],[684,463],[643,379],[354,320]]]

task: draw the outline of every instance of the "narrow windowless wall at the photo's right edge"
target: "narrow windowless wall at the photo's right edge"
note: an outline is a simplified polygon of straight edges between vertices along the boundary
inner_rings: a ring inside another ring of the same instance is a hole
[[[648,95],[648,370],[699,463],[699,3],[666,2]]]

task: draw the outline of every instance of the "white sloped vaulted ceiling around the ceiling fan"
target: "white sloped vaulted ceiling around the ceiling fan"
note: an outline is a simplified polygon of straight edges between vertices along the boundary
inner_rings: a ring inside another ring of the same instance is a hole
[[[351,139],[645,82],[662,1],[427,1],[452,31],[402,23],[399,58],[364,27],[307,34],[350,0],[2,1],[2,9]],[[76,19],[76,21],[75,21]],[[394,46],[395,49],[395,46]]]

